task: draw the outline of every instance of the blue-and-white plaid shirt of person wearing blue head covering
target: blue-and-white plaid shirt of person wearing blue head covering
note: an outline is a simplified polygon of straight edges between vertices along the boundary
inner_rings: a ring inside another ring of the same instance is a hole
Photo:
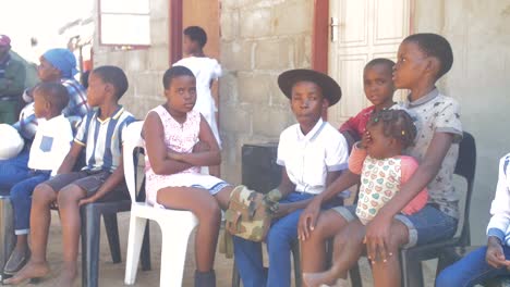
[[[89,111],[87,104],[87,93],[80,83],[73,78],[62,78],[60,82],[69,92],[69,104],[63,109],[62,113],[71,123],[76,123],[82,120]],[[24,95],[23,99],[31,102],[23,108],[20,113],[20,121],[13,124],[20,134],[26,139],[33,139],[37,132],[37,117],[34,114],[34,99]]]

